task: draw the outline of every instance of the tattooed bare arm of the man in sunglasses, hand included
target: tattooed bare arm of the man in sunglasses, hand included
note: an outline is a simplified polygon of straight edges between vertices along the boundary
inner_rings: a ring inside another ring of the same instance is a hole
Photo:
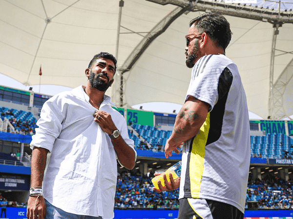
[[[172,151],[179,153],[183,142],[194,137],[207,118],[209,104],[188,96],[187,101],[176,116],[175,125],[165,146],[165,156],[172,156]]]

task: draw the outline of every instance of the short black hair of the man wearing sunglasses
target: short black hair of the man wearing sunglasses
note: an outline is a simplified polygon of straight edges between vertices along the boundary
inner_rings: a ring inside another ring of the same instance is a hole
[[[196,27],[200,33],[207,33],[209,37],[225,51],[230,43],[232,32],[229,22],[220,12],[214,11],[202,14],[192,19],[189,22],[189,27],[191,27],[192,24],[194,24],[194,27]]]

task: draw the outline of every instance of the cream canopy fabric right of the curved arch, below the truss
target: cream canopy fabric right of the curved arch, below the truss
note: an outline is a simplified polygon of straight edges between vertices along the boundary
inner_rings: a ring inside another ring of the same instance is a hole
[[[184,103],[191,73],[185,66],[184,37],[188,33],[188,22],[197,16],[199,12],[177,18],[148,47],[127,80],[126,98],[129,105],[153,101]],[[226,55],[238,66],[249,110],[267,118],[272,24],[230,16],[226,18],[233,33]],[[292,34],[292,24],[284,24],[279,28],[276,48],[293,51]],[[291,59],[292,54],[275,57],[274,81]],[[293,114],[293,111],[287,113]]]

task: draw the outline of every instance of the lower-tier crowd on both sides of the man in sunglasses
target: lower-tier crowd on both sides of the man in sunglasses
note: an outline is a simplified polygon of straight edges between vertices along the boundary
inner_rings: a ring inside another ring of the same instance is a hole
[[[131,176],[123,173],[117,178],[115,196],[116,209],[178,209],[179,189],[158,194],[153,191],[148,176]],[[247,188],[246,209],[249,201],[257,201],[259,209],[290,209],[293,210],[293,187],[291,182],[284,181],[274,175],[266,175],[261,181],[250,180]]]

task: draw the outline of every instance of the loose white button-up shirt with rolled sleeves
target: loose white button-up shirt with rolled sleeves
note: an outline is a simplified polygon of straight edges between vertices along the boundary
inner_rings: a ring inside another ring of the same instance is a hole
[[[122,138],[134,150],[125,118],[108,103],[110,97],[104,95],[100,110],[111,114]],[[82,86],[53,96],[42,107],[30,145],[51,152],[43,178],[47,201],[65,212],[112,219],[117,156],[110,137],[93,120],[95,110]]]

